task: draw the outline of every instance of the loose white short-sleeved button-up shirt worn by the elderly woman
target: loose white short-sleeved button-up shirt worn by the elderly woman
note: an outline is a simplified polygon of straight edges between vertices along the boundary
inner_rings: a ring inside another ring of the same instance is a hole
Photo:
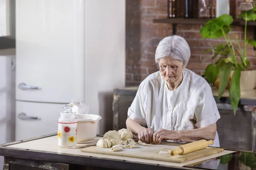
[[[141,82],[128,116],[154,132],[191,130],[217,122],[220,114],[209,83],[189,69],[182,73],[183,80],[174,91],[168,89],[160,71],[150,74]],[[211,146],[219,147],[217,132]]]

